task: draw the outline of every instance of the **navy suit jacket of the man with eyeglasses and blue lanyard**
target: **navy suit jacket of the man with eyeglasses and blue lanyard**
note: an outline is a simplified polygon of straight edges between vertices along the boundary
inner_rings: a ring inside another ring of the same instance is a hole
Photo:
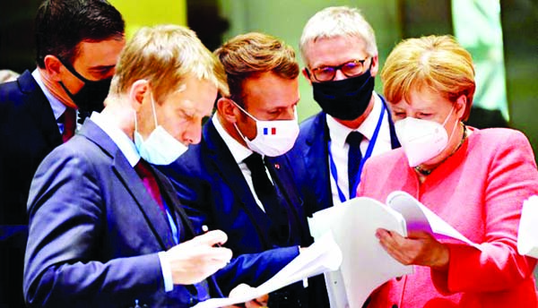
[[[399,148],[400,142],[396,137],[390,112],[387,115],[392,148]],[[333,206],[331,175],[327,160],[329,138],[326,114],[320,112],[300,124],[299,137],[289,153],[299,181],[298,185],[305,199],[305,211],[310,217],[318,210]]]

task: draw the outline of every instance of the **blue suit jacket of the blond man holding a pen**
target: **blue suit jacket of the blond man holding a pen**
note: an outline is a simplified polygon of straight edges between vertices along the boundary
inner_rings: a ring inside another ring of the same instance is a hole
[[[195,230],[171,184],[156,175],[181,241],[192,238]],[[148,307],[196,303],[193,286],[164,292],[157,252],[173,245],[167,219],[123,153],[91,120],[43,160],[28,210],[24,292],[31,306],[128,307],[135,299]],[[236,283],[271,277],[297,253],[241,256],[222,270],[226,292]],[[221,295],[213,277],[206,283],[213,296]]]

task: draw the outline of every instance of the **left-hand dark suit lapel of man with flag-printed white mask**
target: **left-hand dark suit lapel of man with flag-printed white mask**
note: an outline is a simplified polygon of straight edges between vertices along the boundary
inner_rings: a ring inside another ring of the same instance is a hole
[[[248,187],[245,176],[239,169],[238,164],[230,153],[230,149],[222,140],[221,135],[215,129],[213,122],[204,126],[204,141],[208,148],[208,157],[213,162],[213,167],[221,179],[228,183],[230,189],[239,197],[240,205],[247,212],[252,221],[256,222],[256,230],[260,238],[269,243],[267,235],[271,225],[270,219],[265,212],[257,205],[254,195]]]

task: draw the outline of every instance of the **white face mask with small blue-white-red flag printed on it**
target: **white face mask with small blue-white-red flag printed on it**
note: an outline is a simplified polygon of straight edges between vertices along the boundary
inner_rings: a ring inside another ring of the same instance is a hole
[[[248,138],[239,131],[238,126],[234,124],[241,138],[247,143],[248,149],[268,157],[280,156],[291,150],[293,144],[295,144],[295,141],[297,140],[297,136],[299,136],[297,110],[295,111],[295,118],[292,120],[264,121],[256,119],[256,117],[247,113],[245,109],[235,102],[234,104],[239,107],[245,115],[256,122],[256,137],[251,141],[248,140]]]

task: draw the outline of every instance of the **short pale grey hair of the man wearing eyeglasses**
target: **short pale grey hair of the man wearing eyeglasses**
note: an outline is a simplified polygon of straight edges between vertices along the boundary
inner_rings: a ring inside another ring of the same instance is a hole
[[[368,56],[377,56],[376,35],[360,10],[348,6],[330,6],[317,12],[305,25],[300,36],[300,53],[308,65],[308,44],[317,39],[334,39],[336,37],[356,37],[366,45]]]

